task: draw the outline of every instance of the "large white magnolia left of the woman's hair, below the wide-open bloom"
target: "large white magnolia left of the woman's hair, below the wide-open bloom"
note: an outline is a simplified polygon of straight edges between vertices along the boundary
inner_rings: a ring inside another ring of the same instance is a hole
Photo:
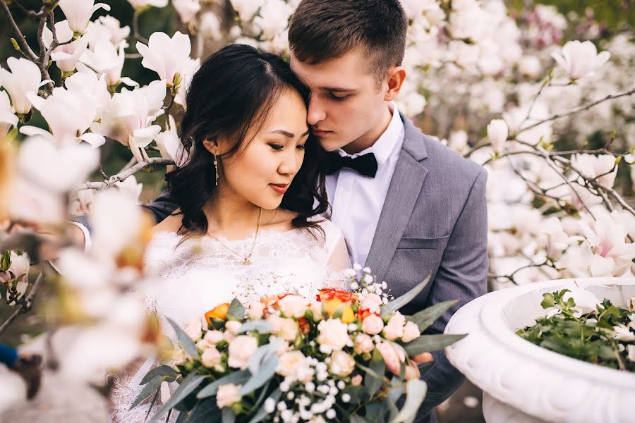
[[[138,161],[147,158],[143,147],[161,132],[159,125],[152,125],[163,113],[165,85],[162,81],[137,90],[123,89],[114,94],[102,109],[101,122],[91,125],[93,132],[110,137],[130,147]]]

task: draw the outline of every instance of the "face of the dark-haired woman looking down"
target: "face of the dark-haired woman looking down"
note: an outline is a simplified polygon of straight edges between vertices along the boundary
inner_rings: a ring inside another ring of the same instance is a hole
[[[284,90],[251,142],[219,166],[219,194],[236,195],[263,209],[276,209],[304,160],[306,106]]]

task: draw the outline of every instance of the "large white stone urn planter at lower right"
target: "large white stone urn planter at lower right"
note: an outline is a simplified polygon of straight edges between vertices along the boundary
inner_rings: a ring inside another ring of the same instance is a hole
[[[583,288],[626,308],[635,278],[532,283],[483,295],[450,319],[445,333],[468,333],[445,353],[483,390],[488,423],[635,422],[635,374],[553,353],[516,336],[544,316],[543,293]]]

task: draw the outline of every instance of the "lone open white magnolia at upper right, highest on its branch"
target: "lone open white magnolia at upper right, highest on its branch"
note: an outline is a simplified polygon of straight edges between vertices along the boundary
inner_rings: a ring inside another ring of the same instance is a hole
[[[595,44],[590,41],[569,41],[562,51],[552,54],[553,59],[567,72],[569,78],[577,80],[596,71],[610,59],[608,51],[598,54]]]

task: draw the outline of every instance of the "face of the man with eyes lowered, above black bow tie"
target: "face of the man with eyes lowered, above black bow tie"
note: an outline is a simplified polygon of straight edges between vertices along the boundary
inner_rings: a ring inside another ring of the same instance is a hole
[[[325,150],[355,153],[375,142],[385,123],[388,85],[377,87],[361,51],[314,64],[291,53],[291,69],[311,90],[307,123]]]

